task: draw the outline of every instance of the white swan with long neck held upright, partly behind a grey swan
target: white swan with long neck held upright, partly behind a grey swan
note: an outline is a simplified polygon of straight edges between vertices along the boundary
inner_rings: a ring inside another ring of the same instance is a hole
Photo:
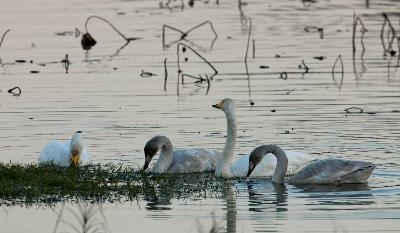
[[[226,98],[219,103],[213,105],[214,108],[224,111],[227,120],[227,137],[222,156],[217,161],[215,175],[222,177],[244,177],[246,176],[249,155],[242,155],[235,163],[232,163],[235,145],[236,145],[236,107],[232,99]],[[287,151],[289,157],[288,173],[293,174],[304,164],[312,160],[312,158],[303,153]],[[266,156],[262,164],[257,166],[253,171],[252,177],[271,176],[275,170],[276,159],[273,156]]]

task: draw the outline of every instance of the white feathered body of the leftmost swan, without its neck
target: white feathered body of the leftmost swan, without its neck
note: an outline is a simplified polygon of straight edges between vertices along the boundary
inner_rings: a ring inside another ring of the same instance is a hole
[[[43,147],[39,156],[40,163],[54,163],[60,166],[69,166],[69,143],[68,146],[65,143],[52,140],[49,141],[45,147]]]

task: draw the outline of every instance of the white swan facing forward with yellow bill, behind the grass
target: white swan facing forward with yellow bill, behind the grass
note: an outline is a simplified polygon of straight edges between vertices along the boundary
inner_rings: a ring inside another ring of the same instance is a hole
[[[82,131],[76,131],[71,140],[65,142],[51,140],[42,149],[40,163],[54,163],[60,166],[77,166],[90,160],[86,147],[83,145]]]

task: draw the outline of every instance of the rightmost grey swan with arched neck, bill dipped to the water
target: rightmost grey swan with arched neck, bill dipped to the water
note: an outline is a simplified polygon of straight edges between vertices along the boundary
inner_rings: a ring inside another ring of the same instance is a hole
[[[284,183],[288,166],[285,152],[277,145],[263,145],[250,153],[247,176],[259,164],[265,154],[272,153],[278,160],[272,182]],[[289,178],[291,184],[353,184],[366,183],[376,165],[370,162],[321,159],[309,163]]]

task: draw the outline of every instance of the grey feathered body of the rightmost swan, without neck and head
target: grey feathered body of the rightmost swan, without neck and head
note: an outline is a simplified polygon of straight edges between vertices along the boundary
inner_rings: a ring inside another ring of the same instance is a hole
[[[289,181],[291,183],[364,183],[375,165],[369,162],[322,159],[301,169]]]

